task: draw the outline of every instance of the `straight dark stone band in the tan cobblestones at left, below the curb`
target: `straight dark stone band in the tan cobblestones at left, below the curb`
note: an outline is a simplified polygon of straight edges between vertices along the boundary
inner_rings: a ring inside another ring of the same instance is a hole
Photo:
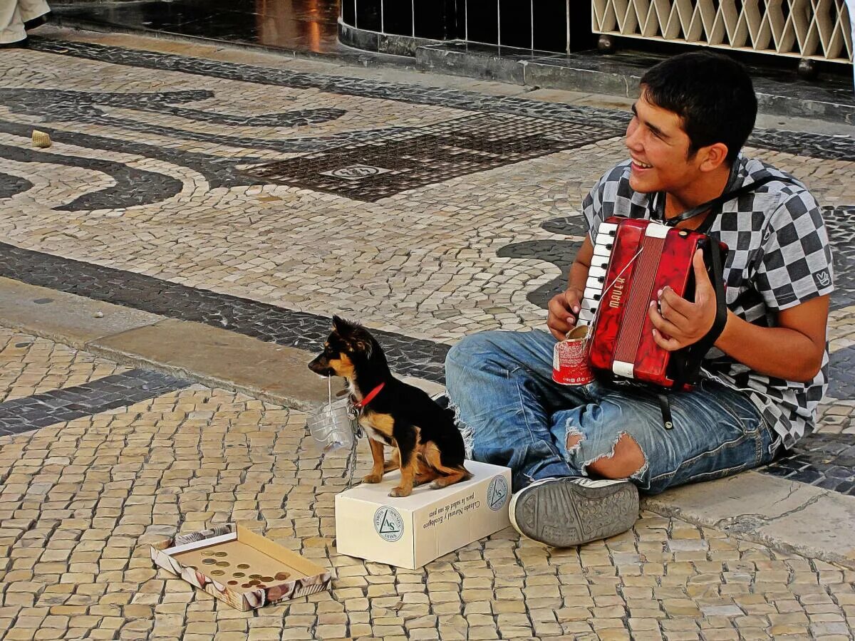
[[[132,369],[85,385],[0,403],[0,436],[30,432],[139,403],[191,385],[167,374]]]

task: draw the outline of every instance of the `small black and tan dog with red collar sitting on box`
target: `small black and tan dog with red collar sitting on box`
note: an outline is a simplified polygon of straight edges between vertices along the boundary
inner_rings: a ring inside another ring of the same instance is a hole
[[[333,316],[333,331],[309,368],[347,380],[374,459],[365,483],[380,483],[384,473],[400,467],[401,482],[389,496],[408,497],[414,485],[432,481],[431,487],[439,488],[472,478],[463,467],[463,436],[451,411],[394,378],[380,344],[365,327]],[[390,461],[383,460],[384,444],[397,448]]]

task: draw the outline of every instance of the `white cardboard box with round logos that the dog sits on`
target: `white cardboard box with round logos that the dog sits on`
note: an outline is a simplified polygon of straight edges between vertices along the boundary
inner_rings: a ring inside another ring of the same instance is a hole
[[[340,554],[416,569],[510,525],[510,469],[466,462],[473,478],[441,490],[390,497],[398,472],[335,497]]]

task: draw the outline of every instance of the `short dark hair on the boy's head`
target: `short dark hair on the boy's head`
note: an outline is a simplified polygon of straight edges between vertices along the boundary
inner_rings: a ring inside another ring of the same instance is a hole
[[[641,78],[649,103],[673,111],[689,137],[689,157],[723,143],[732,165],[754,128],[757,96],[746,69],[722,54],[692,51],[659,62]]]

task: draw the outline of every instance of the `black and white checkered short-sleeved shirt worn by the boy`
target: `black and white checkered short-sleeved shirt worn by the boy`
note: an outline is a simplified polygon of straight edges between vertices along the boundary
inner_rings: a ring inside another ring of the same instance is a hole
[[[592,238],[609,216],[661,219],[663,197],[633,191],[629,162],[599,179],[582,203]],[[741,155],[726,191],[765,176],[781,176],[724,203],[708,231],[728,245],[724,265],[728,308],[759,326],[772,326],[775,313],[834,290],[831,250],[817,201],[805,185],[770,165]],[[813,428],[817,403],[828,387],[828,346],[823,366],[810,383],[775,379],[747,368],[722,351],[707,354],[702,372],[745,391],[786,447]]]

